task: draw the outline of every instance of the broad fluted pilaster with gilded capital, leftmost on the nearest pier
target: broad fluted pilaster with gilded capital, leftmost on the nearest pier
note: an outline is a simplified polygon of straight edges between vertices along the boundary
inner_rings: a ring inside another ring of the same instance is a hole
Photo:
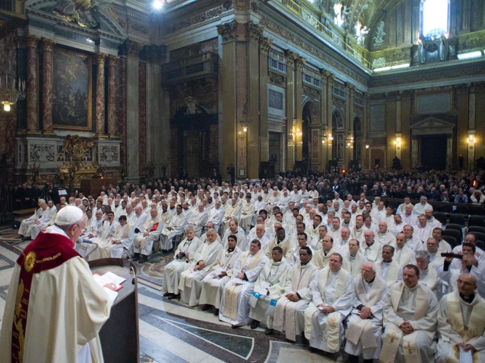
[[[226,168],[233,164],[236,166],[236,40],[237,23],[217,26],[221,36],[221,62],[219,63],[219,78],[221,79],[222,118],[219,129],[219,173],[226,176]]]

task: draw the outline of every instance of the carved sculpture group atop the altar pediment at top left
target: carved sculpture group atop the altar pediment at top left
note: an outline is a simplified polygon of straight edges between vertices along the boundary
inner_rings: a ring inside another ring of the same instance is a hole
[[[112,3],[113,0],[58,0],[54,5],[54,14],[67,22],[94,28],[101,21],[100,13],[116,15],[114,9],[110,9]]]

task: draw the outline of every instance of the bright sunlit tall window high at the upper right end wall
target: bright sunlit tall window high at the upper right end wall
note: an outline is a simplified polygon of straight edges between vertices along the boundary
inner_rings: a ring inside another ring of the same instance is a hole
[[[422,0],[420,11],[420,36],[438,38],[448,33],[450,0]]]

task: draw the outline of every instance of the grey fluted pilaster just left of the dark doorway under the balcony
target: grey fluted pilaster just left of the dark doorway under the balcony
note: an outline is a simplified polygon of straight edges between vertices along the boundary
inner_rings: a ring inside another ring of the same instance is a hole
[[[162,106],[160,65],[165,63],[165,45],[147,45],[147,163],[155,163],[155,175],[161,175],[161,155],[163,146],[170,145],[170,126],[160,125],[160,114],[169,113],[169,108]],[[168,155],[166,153],[165,155]]]

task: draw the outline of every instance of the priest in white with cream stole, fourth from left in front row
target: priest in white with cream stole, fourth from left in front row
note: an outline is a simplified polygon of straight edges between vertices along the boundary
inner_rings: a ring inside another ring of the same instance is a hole
[[[261,243],[252,240],[249,251],[243,252],[238,258],[234,264],[232,278],[224,286],[219,320],[234,327],[246,325],[251,321],[249,297],[266,261],[268,257],[261,249]]]

